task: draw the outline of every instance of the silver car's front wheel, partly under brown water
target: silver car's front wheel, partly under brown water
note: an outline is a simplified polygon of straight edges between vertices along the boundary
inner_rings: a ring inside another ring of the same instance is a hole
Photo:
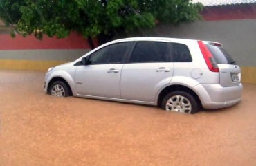
[[[57,81],[51,85],[49,93],[50,95],[57,97],[68,97],[70,91],[64,82]]]

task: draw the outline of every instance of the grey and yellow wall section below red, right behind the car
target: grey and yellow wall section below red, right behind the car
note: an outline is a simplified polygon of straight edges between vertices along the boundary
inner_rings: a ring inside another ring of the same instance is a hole
[[[243,81],[256,83],[256,19],[158,26],[152,35],[220,42],[242,66]]]

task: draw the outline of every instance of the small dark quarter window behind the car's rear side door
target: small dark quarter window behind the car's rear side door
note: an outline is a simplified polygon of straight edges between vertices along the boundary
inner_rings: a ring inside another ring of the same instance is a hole
[[[192,62],[190,50],[185,44],[172,43],[170,53],[172,54],[173,62]]]

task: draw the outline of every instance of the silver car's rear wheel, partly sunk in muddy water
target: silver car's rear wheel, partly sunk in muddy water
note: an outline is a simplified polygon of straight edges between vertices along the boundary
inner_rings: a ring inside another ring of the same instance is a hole
[[[163,98],[161,108],[166,111],[194,114],[199,111],[199,103],[188,92],[172,91]]]

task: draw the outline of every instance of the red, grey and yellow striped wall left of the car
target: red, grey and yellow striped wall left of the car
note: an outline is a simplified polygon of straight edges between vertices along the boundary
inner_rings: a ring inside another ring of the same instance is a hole
[[[51,66],[71,62],[90,50],[86,39],[71,33],[64,39],[33,36],[15,38],[0,34],[0,68],[46,71]]]

